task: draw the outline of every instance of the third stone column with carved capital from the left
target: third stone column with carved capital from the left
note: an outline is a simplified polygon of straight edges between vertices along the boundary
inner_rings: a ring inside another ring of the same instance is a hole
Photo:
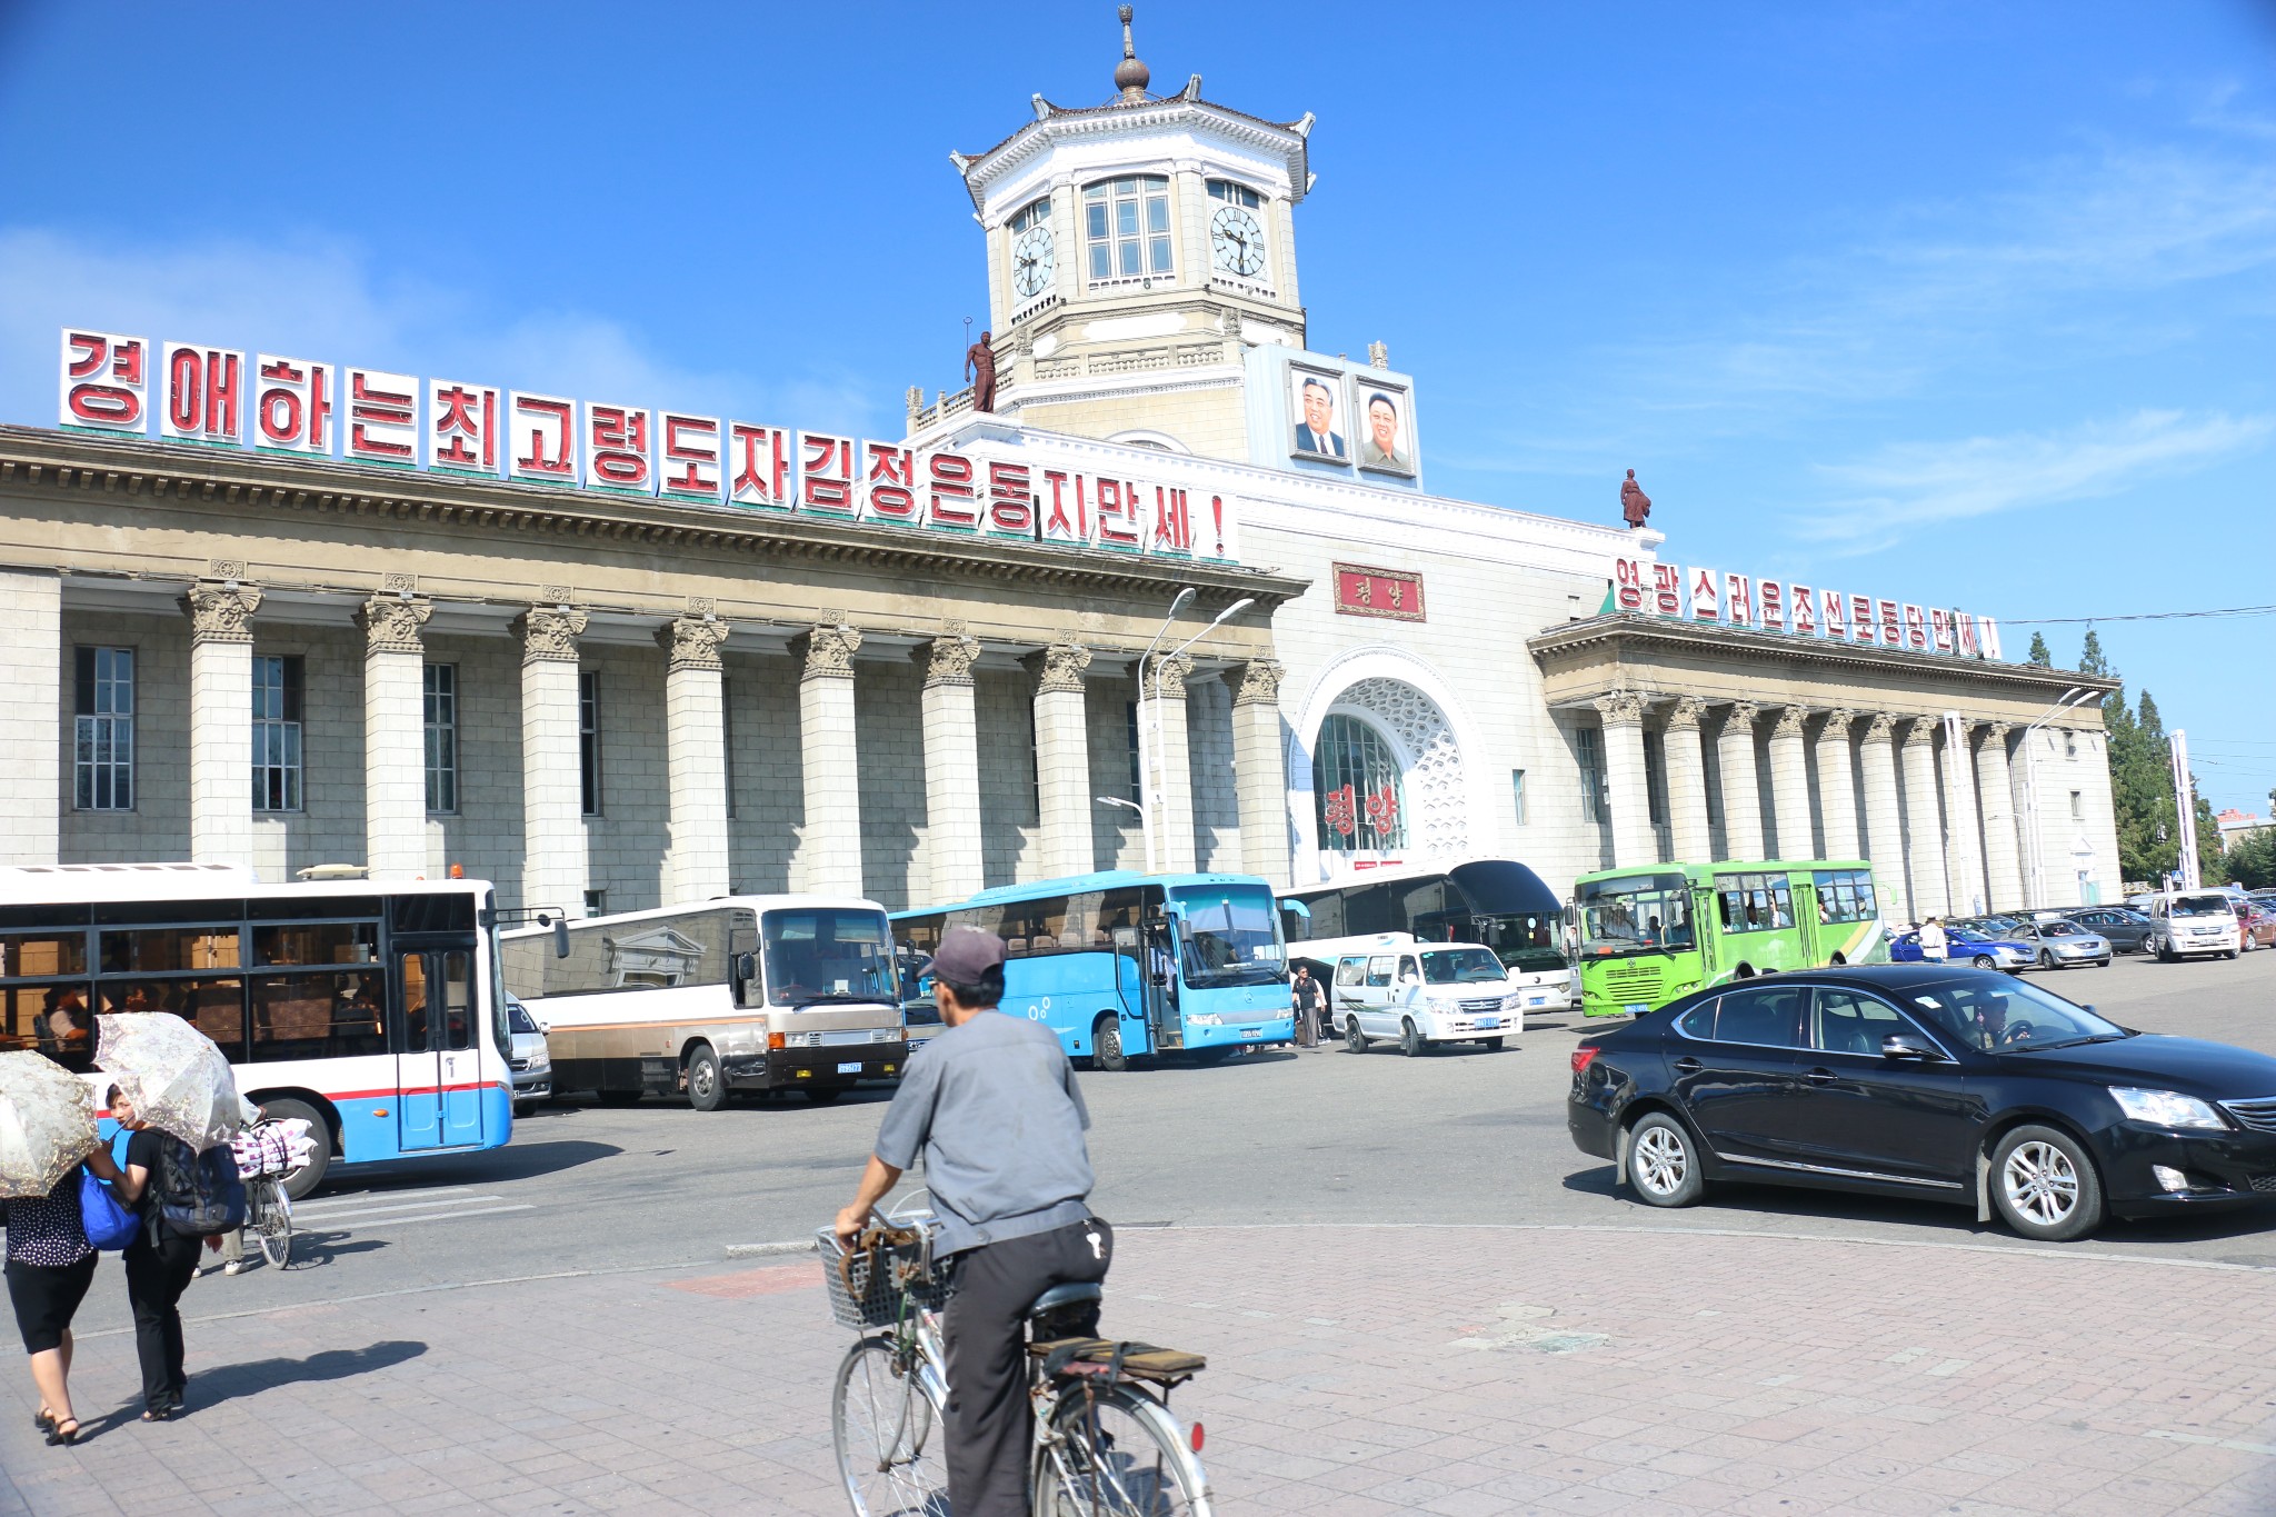
[[[521,637],[521,905],[585,912],[585,785],[576,751],[576,639],[585,612],[533,605]]]

